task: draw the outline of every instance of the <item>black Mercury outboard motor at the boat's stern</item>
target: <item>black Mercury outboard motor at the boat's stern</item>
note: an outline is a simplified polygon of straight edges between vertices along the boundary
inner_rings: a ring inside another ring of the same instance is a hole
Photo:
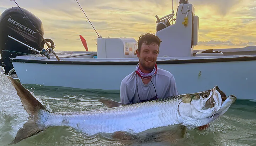
[[[41,20],[28,10],[23,8],[22,10],[39,32],[37,32],[35,27],[31,24],[28,18],[26,18],[19,7],[6,9],[1,14],[0,53],[2,59],[0,60],[0,65],[4,67],[6,74],[8,74],[8,72],[13,68],[12,62],[10,62],[10,58],[15,58],[16,56],[20,55],[37,53],[9,38],[8,35],[39,51],[43,49],[43,47],[40,47],[43,40],[40,34],[44,36],[44,29]]]

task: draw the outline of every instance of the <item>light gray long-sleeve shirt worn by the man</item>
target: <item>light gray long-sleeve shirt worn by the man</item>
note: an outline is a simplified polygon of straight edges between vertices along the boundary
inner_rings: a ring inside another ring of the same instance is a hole
[[[138,103],[141,100],[149,100],[156,96],[165,98],[178,95],[175,78],[172,73],[157,68],[156,74],[151,78],[152,83],[144,84],[136,71],[127,75],[120,85],[120,100],[123,104]],[[137,88],[138,85],[138,88]],[[137,92],[138,90],[138,92]],[[140,99],[138,98],[138,94]]]

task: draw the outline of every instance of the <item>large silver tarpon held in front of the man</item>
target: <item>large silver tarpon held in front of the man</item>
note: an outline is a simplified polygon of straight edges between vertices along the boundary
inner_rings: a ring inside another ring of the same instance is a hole
[[[175,124],[185,126],[207,125],[223,115],[236,100],[214,88],[193,94],[122,105],[119,102],[100,100],[108,108],[83,112],[50,112],[15,79],[9,77],[17,95],[30,115],[28,122],[17,132],[12,144],[33,136],[48,127],[68,126],[90,136],[98,133],[132,131]]]

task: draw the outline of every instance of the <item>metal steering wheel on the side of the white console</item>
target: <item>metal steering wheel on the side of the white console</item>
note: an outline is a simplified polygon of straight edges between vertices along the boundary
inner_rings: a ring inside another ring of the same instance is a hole
[[[156,21],[156,23],[157,23],[157,24],[156,24],[156,31],[162,30],[162,29],[164,29],[164,28],[170,26],[171,24],[170,24],[169,20],[172,19],[173,16],[174,16],[174,10],[172,11],[172,14],[166,15],[166,16],[160,18],[160,19],[159,19],[159,17],[156,15],[156,16],[155,16],[156,19],[157,19],[157,21]],[[174,18],[173,21],[175,21],[175,20],[176,20],[176,19]]]

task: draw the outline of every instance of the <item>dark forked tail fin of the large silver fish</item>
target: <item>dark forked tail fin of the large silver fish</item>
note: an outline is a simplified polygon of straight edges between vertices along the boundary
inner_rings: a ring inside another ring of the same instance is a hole
[[[15,144],[46,129],[47,127],[43,128],[42,126],[38,126],[38,114],[41,110],[45,110],[47,112],[49,111],[46,110],[46,108],[18,81],[9,76],[8,78],[16,89],[24,109],[30,115],[28,122],[26,122],[23,127],[18,130],[15,139],[12,143],[10,143]]]

